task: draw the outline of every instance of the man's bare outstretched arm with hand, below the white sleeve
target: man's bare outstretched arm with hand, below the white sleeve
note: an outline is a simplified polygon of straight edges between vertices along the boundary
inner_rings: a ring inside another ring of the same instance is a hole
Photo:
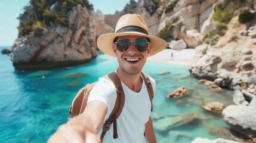
[[[102,101],[92,101],[84,113],[61,125],[48,142],[101,142],[97,133],[103,126],[107,105]]]

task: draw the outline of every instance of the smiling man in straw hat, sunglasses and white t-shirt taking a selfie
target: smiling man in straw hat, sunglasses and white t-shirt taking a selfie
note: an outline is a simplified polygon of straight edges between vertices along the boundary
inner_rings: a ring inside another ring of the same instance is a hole
[[[112,123],[102,142],[156,142],[150,117],[152,102],[141,70],[147,57],[165,49],[166,42],[148,34],[146,22],[140,15],[126,14],[118,20],[115,33],[97,39],[97,46],[104,54],[117,58],[119,67],[115,72],[125,95],[124,108],[116,119],[118,138],[113,138],[116,128]],[[156,82],[148,77],[155,92]],[[103,132],[103,123],[112,112],[116,97],[115,85],[99,78],[90,92],[84,112],[61,125],[48,142],[101,142],[99,136]]]

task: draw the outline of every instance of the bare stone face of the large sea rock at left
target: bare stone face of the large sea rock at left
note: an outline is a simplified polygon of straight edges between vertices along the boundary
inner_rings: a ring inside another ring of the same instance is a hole
[[[42,36],[16,39],[11,60],[14,67],[29,68],[84,63],[96,56],[94,10],[77,5],[68,27],[49,26]]]

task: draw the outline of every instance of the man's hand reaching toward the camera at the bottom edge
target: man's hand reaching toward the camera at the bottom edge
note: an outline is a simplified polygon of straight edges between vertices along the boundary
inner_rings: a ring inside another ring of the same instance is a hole
[[[88,129],[88,128],[87,128]],[[85,130],[79,125],[61,125],[57,131],[48,139],[48,143],[55,142],[101,142],[93,130]]]

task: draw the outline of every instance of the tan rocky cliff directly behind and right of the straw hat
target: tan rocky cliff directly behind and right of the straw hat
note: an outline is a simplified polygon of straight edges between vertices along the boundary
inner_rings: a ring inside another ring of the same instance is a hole
[[[104,15],[105,24],[115,29],[118,19],[128,13],[140,14],[147,23],[150,35],[158,35],[171,22],[169,38],[166,42],[182,39],[185,48],[195,48],[202,44],[203,35],[215,28],[211,20],[213,5],[217,0],[131,0],[121,12]],[[101,30],[106,31],[104,27]],[[193,32],[191,31],[193,30]],[[100,30],[99,30],[100,31]]]

